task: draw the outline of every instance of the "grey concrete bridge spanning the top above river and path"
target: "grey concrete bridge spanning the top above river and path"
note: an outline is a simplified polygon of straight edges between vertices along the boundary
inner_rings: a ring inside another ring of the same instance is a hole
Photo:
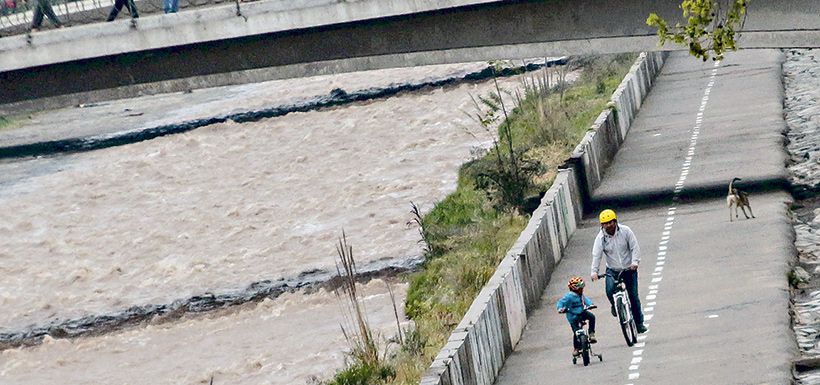
[[[645,20],[650,12],[677,20],[679,3],[263,1],[239,11],[226,5],[76,26],[0,39],[0,104],[88,102],[101,90],[125,97],[389,67],[677,49],[658,47]],[[820,2],[753,1],[740,46],[820,46]]]

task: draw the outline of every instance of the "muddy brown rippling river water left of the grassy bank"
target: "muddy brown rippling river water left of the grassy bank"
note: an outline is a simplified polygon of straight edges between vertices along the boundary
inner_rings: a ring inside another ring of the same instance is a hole
[[[124,129],[136,129],[243,101],[287,103],[336,87],[387,86],[477,67],[116,101],[36,115],[4,135],[9,142],[37,132],[47,137],[54,122],[86,135],[123,115]],[[512,90],[520,81],[504,78],[500,85]],[[493,89],[492,81],[464,82],[86,153],[5,161],[0,332],[332,270],[342,229],[360,264],[418,256],[417,229],[407,226],[410,202],[429,210],[453,191],[471,150],[490,143],[468,114],[476,112],[471,95]],[[397,287],[399,301],[404,290]],[[394,333],[384,282],[371,281],[366,293],[374,327]],[[99,336],[46,337],[41,345],[0,353],[0,383],[199,384],[212,375],[217,384],[304,383],[342,366],[340,321],[335,296],[319,291]]]

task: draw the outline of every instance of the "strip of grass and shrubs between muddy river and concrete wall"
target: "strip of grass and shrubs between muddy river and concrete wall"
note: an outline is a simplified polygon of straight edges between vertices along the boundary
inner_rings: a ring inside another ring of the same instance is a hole
[[[426,215],[412,206],[425,262],[410,274],[413,327],[376,364],[357,359],[330,384],[417,384],[529,220],[636,55],[577,58],[522,76],[518,90],[474,95],[475,130],[498,138],[459,170],[458,187]],[[579,73],[567,82],[569,73]],[[357,349],[354,346],[353,351]]]

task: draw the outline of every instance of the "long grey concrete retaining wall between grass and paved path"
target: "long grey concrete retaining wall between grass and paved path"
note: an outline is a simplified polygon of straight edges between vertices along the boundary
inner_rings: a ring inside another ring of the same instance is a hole
[[[600,185],[665,58],[656,52],[636,60],[612,95],[612,107],[559,170],[526,229],[422,376],[422,385],[495,382],[581,220],[590,191]]]

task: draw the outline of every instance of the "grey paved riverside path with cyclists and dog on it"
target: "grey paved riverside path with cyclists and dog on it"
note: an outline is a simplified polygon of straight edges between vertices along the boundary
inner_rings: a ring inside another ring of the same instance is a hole
[[[570,276],[588,280],[598,231],[588,218],[496,384],[791,383],[786,272],[794,253],[791,197],[779,188],[786,176],[781,61],[770,50],[732,54],[717,67],[670,56],[594,196],[601,206],[617,204],[638,237],[649,331],[628,348],[603,283],[588,284],[600,306],[594,347],[604,360],[572,366],[570,329],[555,302]],[[658,194],[674,191],[683,176],[677,202]],[[756,219],[729,222],[725,189],[733,177],[755,190]]]

